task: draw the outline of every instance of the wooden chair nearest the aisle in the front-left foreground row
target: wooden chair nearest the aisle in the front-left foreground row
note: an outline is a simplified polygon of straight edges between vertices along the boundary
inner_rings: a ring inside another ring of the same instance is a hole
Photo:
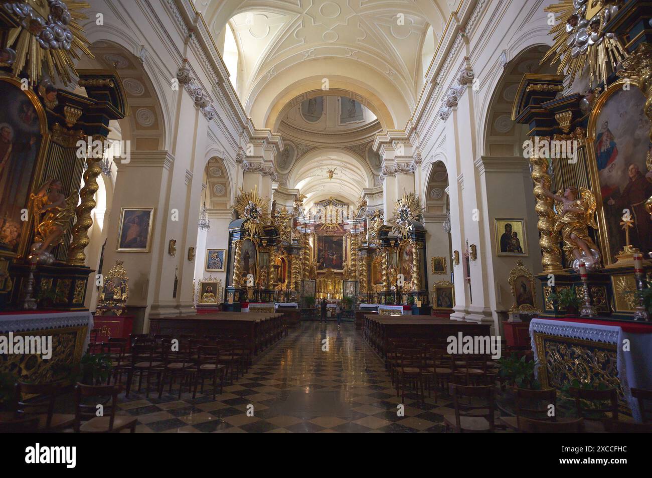
[[[121,391],[122,385],[83,385],[83,383],[78,383],[75,386],[75,432],[117,433],[122,430],[130,430],[131,433],[134,433],[138,423],[137,418],[115,415],[117,397]],[[84,399],[90,397],[102,397],[105,403],[98,402],[98,400],[93,400],[91,403],[83,402]],[[107,397],[109,397],[108,400],[106,400]],[[102,417],[97,416],[100,404],[102,404],[104,412]]]

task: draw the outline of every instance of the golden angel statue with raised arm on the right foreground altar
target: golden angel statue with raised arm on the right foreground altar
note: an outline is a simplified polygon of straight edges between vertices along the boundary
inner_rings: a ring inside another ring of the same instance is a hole
[[[587,188],[567,187],[553,194],[549,189],[542,188],[543,193],[554,200],[556,219],[555,230],[561,231],[564,240],[566,258],[572,261],[575,271],[580,270],[579,262],[583,261],[587,270],[600,268],[600,250],[593,239],[589,237],[589,228],[597,229],[595,222],[595,196]]]

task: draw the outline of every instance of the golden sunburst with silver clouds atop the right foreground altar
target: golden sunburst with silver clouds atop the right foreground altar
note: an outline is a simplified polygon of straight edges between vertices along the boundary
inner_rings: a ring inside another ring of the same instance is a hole
[[[550,29],[554,44],[541,63],[559,61],[557,74],[574,79],[589,64],[590,86],[606,82],[627,52],[614,33],[604,32],[604,25],[618,13],[622,0],[563,0],[546,7],[562,22]],[[561,61],[560,61],[561,60]]]

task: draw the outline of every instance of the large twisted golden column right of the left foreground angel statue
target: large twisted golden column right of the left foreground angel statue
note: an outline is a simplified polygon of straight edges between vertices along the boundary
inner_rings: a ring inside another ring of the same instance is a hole
[[[102,173],[100,161],[104,157],[104,144],[106,144],[106,138],[104,136],[93,136],[93,142],[96,140],[102,142],[102,155],[98,158],[95,158],[94,155],[89,155],[86,158],[88,168],[83,173],[84,186],[80,191],[82,202],[75,209],[77,222],[72,226],[72,237],[70,239],[70,245],[68,245],[67,263],[70,265],[85,265],[86,263],[84,249],[90,242],[88,230],[93,226],[91,211],[95,209],[96,205],[93,196],[95,196],[98,190],[97,177]]]

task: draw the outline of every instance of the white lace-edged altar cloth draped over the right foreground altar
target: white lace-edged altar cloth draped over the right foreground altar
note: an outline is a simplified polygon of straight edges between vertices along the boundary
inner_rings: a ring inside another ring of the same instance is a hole
[[[615,344],[616,366],[618,377],[623,385],[625,399],[632,410],[634,420],[641,421],[638,400],[632,398],[630,389],[632,387],[652,389],[652,333],[627,333],[621,327],[614,325],[533,319],[530,322],[529,334],[535,360],[539,360],[535,345],[535,332]],[[629,351],[623,351],[625,340],[629,340]],[[544,363],[544,360],[541,362]]]

